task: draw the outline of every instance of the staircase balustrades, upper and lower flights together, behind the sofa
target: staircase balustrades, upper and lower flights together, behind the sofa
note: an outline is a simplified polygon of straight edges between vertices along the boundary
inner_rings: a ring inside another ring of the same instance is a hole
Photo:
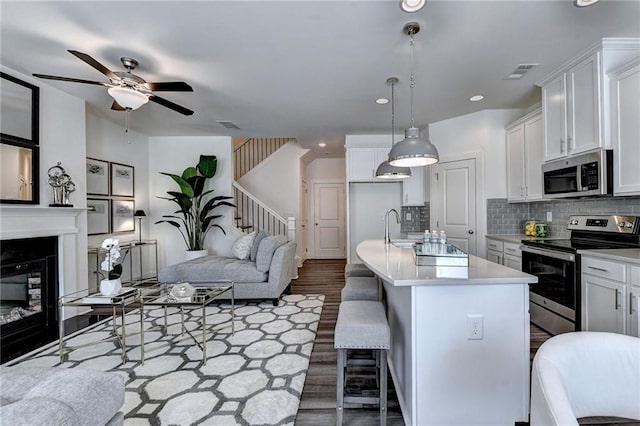
[[[280,216],[237,182],[290,140],[291,138],[248,138],[234,149],[235,222],[242,232],[263,230],[268,235],[284,235],[289,241],[295,241],[295,219]]]

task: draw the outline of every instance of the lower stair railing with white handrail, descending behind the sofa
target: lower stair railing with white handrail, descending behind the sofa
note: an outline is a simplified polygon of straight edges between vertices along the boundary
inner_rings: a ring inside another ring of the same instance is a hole
[[[238,182],[233,182],[236,204],[236,227],[245,231],[262,230],[268,235],[284,235],[289,241],[296,241],[295,218],[284,218],[258,200]]]

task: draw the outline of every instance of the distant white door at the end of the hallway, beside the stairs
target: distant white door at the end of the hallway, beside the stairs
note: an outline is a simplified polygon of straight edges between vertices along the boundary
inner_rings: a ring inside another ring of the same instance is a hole
[[[316,259],[345,257],[344,183],[313,184]]]

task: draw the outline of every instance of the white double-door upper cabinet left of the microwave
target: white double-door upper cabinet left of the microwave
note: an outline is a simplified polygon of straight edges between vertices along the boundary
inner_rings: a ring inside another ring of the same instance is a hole
[[[542,199],[542,112],[534,111],[507,130],[507,197],[509,201]]]

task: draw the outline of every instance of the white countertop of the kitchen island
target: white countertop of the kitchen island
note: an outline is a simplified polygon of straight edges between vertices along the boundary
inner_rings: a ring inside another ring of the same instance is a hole
[[[358,244],[360,260],[383,280],[395,286],[528,284],[537,277],[469,255],[469,266],[416,266],[413,248],[385,245],[383,240]]]

